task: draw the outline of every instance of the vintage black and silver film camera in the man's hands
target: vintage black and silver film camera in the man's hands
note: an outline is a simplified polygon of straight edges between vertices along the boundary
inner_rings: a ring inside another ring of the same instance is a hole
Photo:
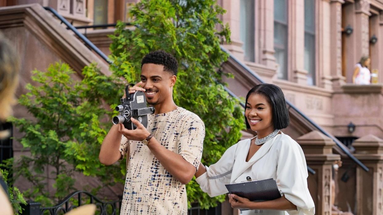
[[[118,116],[113,117],[113,124],[124,124],[126,129],[136,129],[136,125],[130,120],[131,117],[138,120],[141,124],[147,127],[147,115],[154,113],[154,107],[146,106],[146,97],[144,92],[136,91],[129,94],[129,84],[125,87],[126,98],[121,98],[119,104],[116,107],[116,111],[119,112]]]

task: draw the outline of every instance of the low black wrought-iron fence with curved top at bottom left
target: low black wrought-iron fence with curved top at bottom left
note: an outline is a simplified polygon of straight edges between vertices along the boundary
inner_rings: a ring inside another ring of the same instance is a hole
[[[27,202],[23,205],[23,215],[59,215],[69,212],[72,209],[84,204],[95,204],[100,215],[116,215],[121,208],[122,199],[103,202],[96,196],[86,191],[75,191],[65,197],[59,204],[52,207],[41,207],[39,202]]]

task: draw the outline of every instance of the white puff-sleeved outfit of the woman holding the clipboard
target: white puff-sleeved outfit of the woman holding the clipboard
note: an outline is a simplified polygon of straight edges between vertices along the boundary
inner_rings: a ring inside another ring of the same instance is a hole
[[[273,178],[281,195],[297,210],[244,210],[242,214],[313,215],[314,201],[308,190],[306,159],[300,145],[286,134],[277,134],[246,162],[250,144],[251,139],[239,141],[217,163],[206,166],[206,172],[196,178],[200,188],[214,197],[228,193],[225,184],[241,183],[247,176],[252,180]]]

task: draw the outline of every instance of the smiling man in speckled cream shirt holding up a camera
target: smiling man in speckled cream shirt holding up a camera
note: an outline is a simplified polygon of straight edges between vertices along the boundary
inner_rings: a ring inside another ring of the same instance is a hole
[[[142,59],[141,81],[129,94],[144,91],[155,113],[148,115],[147,128],[134,118],[135,130],[113,125],[101,145],[105,165],[127,155],[120,214],[187,214],[185,184],[200,164],[205,125],[173,101],[177,67],[177,60],[161,50]]]

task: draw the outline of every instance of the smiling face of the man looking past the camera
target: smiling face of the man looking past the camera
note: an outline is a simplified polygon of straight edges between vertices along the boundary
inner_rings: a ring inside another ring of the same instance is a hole
[[[147,103],[157,105],[173,99],[173,86],[176,76],[164,71],[163,65],[145,63],[141,68],[141,87],[146,89]]]

